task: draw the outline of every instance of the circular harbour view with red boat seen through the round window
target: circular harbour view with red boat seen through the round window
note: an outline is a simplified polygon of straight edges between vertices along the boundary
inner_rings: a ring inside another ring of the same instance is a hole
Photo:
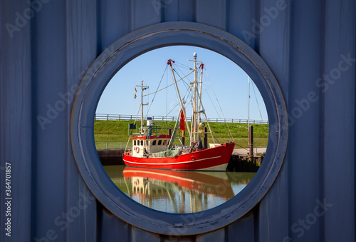
[[[137,203],[195,213],[236,196],[263,163],[266,107],[234,62],[194,46],[130,61],[98,103],[95,146],[105,171]]]

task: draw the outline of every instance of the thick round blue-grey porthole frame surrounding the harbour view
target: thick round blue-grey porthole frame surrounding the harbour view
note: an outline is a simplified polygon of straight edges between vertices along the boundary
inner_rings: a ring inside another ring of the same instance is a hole
[[[266,156],[256,176],[234,198],[199,213],[162,213],[136,203],[112,183],[101,166],[94,143],[95,109],[112,76],[140,54],[173,45],[210,49],[241,66],[261,92],[270,123]],[[226,226],[261,201],[282,166],[288,123],[286,104],[278,82],[253,49],[221,29],[191,22],[168,22],[133,31],[98,56],[83,77],[75,96],[70,132],[79,171],[90,191],[108,210],[123,221],[146,231],[179,236],[205,233]]]

